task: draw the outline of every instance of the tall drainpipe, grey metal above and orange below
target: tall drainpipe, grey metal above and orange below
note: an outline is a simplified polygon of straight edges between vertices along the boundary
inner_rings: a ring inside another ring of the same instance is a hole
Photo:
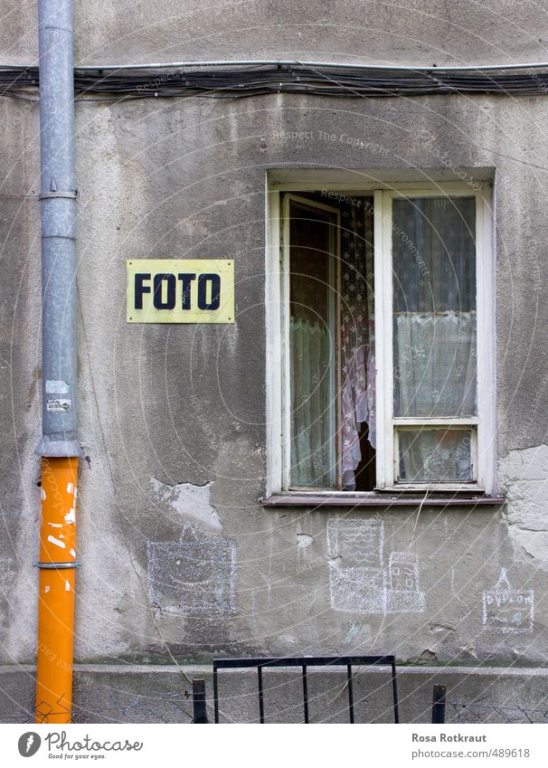
[[[71,0],[38,0],[42,525],[36,722],[70,723],[76,562],[76,185]]]

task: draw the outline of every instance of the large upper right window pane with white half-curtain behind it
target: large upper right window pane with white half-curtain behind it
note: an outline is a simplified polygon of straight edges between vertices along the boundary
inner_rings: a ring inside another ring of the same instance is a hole
[[[476,200],[393,202],[394,415],[477,412]]]

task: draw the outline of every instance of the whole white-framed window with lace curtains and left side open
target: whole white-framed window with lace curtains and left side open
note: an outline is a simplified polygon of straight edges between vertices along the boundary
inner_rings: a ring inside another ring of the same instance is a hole
[[[491,494],[489,185],[280,187],[269,492]]]

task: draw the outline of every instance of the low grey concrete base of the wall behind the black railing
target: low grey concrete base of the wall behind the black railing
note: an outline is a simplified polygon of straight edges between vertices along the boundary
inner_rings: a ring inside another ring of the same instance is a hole
[[[33,722],[33,668],[0,667],[1,722]],[[205,681],[206,712],[214,721],[210,666],[77,664],[74,670],[75,723],[190,723],[192,686]],[[397,671],[400,722],[430,723],[432,687],[446,687],[447,723],[546,723],[546,670],[473,667],[401,667]],[[300,669],[263,673],[267,723],[302,723]],[[255,670],[219,672],[221,723],[258,723]],[[347,723],[346,669],[307,670],[311,723]],[[356,723],[393,723],[392,679],[387,668],[353,668]]]

